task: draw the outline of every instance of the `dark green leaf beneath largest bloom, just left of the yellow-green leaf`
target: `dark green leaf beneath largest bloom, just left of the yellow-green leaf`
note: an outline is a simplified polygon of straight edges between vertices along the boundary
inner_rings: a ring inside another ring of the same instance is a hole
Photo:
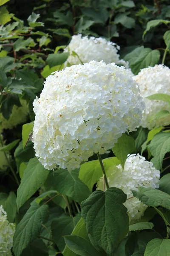
[[[51,190],[57,190],[61,195],[68,195],[81,203],[88,198],[90,190],[79,179],[79,169],[68,172],[67,169],[59,169],[48,176],[45,185]]]

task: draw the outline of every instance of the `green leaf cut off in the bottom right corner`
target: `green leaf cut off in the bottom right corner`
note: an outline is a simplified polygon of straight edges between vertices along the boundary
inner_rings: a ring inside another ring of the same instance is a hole
[[[144,256],[169,256],[170,239],[153,239],[151,240],[144,252]]]

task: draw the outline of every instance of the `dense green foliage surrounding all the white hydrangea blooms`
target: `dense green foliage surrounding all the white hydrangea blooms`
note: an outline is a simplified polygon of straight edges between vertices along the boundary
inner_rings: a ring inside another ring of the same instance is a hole
[[[123,169],[132,153],[161,170],[159,189],[133,191],[149,207],[131,225],[125,193],[96,190],[102,177],[96,155],[80,169],[53,172],[27,141],[32,103],[45,78],[64,67],[72,35],[115,42],[137,75],[144,67],[170,66],[169,18],[167,0],[0,0],[0,205],[16,224],[12,255],[170,255],[170,127],[139,127],[102,155],[106,175],[111,166]],[[148,99],[170,104],[163,93]],[[152,118],[169,115],[164,110]]]

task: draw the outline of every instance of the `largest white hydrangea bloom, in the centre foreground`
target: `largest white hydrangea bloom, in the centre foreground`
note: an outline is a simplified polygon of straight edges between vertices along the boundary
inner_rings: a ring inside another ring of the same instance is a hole
[[[46,169],[79,168],[94,153],[135,131],[144,103],[124,67],[91,61],[48,76],[33,102],[36,156]]]

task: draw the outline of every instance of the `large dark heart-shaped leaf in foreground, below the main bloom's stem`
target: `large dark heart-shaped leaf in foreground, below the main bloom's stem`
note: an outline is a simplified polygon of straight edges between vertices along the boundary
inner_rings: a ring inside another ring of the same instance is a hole
[[[129,230],[127,195],[117,188],[96,190],[81,204],[87,232],[107,253],[112,253]]]

